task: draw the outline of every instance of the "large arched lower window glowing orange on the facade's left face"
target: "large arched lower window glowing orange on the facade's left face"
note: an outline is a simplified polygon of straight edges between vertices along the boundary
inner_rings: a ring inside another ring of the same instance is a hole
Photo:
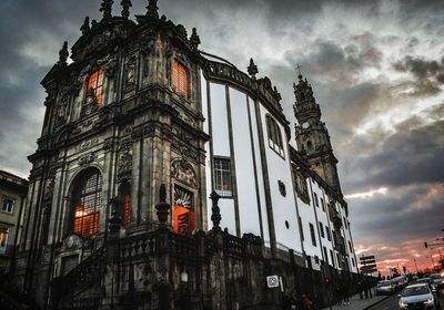
[[[99,231],[102,175],[90,169],[81,175],[73,188],[73,232],[91,236]]]

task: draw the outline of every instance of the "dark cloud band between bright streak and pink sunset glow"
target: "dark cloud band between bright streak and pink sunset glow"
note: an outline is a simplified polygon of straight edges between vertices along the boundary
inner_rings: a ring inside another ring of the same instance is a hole
[[[356,227],[353,230],[355,237],[360,240],[377,241],[380,236],[385,236],[386,242],[396,242],[427,238],[431,231],[440,231],[444,223],[444,213],[441,211],[443,186],[444,184],[406,186],[390,189],[389,195],[360,200],[359,205],[351,208],[353,226]]]

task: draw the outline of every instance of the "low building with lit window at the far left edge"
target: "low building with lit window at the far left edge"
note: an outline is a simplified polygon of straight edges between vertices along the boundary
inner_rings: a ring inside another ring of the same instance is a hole
[[[8,272],[20,241],[28,180],[0,170],[0,275]]]

